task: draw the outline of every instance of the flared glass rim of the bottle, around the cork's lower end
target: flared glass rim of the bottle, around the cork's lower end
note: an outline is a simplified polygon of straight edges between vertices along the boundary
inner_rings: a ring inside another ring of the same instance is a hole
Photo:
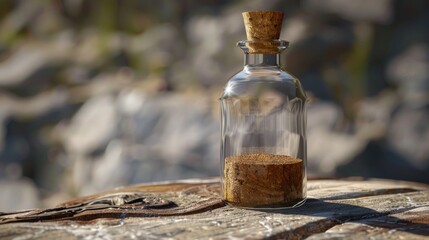
[[[284,40],[242,40],[237,42],[244,53],[249,54],[278,54],[289,46]]]

